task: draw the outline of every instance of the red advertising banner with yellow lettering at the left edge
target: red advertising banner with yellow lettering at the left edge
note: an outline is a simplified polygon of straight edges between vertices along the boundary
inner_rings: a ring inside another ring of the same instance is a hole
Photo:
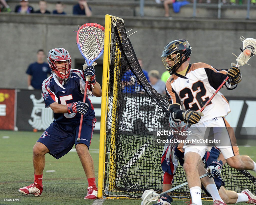
[[[15,90],[0,89],[0,129],[14,129]]]

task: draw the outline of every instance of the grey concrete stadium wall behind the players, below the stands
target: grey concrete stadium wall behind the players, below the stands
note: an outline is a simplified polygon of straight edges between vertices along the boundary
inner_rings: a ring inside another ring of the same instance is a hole
[[[166,43],[175,39],[188,39],[192,46],[191,63],[205,62],[216,68],[229,68],[236,61],[242,46],[239,37],[256,38],[256,23],[253,20],[217,19],[153,19],[151,17],[123,17],[126,30],[137,31],[129,38],[138,58],[144,61],[144,69],[165,71],[161,53]],[[27,88],[28,65],[36,60],[40,48],[48,51],[64,47],[72,56],[72,67],[82,56],[77,48],[78,25],[97,22],[104,25],[104,16],[54,16],[54,15],[0,15],[1,55],[0,88]],[[132,33],[133,31],[129,32]],[[102,58],[99,60],[102,61]],[[221,92],[227,96],[255,97],[256,58],[252,66],[242,67],[242,82],[237,89]]]

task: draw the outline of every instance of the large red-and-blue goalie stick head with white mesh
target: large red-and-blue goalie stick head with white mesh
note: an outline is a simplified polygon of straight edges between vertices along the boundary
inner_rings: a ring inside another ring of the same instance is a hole
[[[78,29],[77,46],[87,65],[103,54],[104,31],[104,27],[98,23],[85,23]]]

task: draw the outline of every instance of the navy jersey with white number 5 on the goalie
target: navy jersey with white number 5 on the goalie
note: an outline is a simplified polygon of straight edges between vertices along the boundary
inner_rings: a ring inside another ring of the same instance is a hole
[[[72,102],[83,102],[84,96],[84,76],[81,70],[71,69],[71,77],[66,84],[60,84],[54,74],[42,83],[42,94],[44,97],[45,107],[50,107],[50,104],[57,102],[62,105],[67,105]],[[87,94],[92,95],[91,86],[87,87]],[[86,103],[89,104],[88,112],[83,116],[83,120],[95,116],[93,105],[86,95]],[[64,125],[77,125],[80,123],[80,113],[54,113],[54,122]]]

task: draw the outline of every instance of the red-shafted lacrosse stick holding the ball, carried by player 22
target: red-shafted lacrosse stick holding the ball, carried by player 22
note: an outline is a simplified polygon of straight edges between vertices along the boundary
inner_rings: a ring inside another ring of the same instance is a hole
[[[243,36],[240,37],[240,40],[243,42],[243,49],[240,48],[240,50],[242,51],[240,53],[240,55],[237,57],[236,61],[237,64],[235,65],[234,63],[231,63],[231,66],[236,66],[236,67],[240,67],[243,66],[244,64],[247,64],[247,62],[249,61],[249,59],[256,55],[256,39],[253,38],[247,38],[245,39]],[[249,64],[248,64],[249,65]],[[219,92],[219,90],[222,88],[222,86],[228,81],[229,76],[227,76],[225,78],[225,80],[223,80],[223,82],[220,84],[220,86],[217,88],[217,90],[215,91],[215,93],[212,94],[212,96],[209,98],[209,100],[204,104],[204,106],[200,109],[200,111],[198,112],[198,114],[200,115],[202,113],[202,111],[205,109],[205,107],[211,102],[212,98],[214,98],[214,96]],[[188,124],[188,127],[190,127],[192,124]]]

